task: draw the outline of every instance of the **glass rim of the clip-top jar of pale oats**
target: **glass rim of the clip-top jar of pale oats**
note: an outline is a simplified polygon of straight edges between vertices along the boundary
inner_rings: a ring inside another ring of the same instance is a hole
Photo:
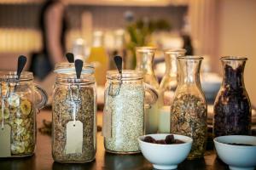
[[[119,80],[120,79],[119,71],[116,71],[116,70],[107,71],[107,79]],[[122,80],[140,80],[140,79],[143,79],[143,71],[135,71],[135,70],[122,71]]]

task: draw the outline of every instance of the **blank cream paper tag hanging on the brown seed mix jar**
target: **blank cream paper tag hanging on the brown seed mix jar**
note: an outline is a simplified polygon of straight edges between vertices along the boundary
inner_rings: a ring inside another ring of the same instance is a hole
[[[66,126],[66,154],[82,153],[83,150],[83,123],[80,121],[67,122]]]

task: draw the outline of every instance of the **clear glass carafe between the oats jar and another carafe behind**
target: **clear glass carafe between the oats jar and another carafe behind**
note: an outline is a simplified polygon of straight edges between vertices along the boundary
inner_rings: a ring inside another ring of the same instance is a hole
[[[156,48],[138,47],[136,48],[137,71],[143,71],[143,81],[151,85],[154,89],[159,89],[159,82],[154,75],[154,54]],[[145,111],[145,132],[157,133],[159,122],[159,100]]]

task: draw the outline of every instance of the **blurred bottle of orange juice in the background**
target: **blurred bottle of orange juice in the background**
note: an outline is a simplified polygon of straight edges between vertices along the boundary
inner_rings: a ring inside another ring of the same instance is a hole
[[[95,31],[93,33],[93,44],[90,48],[90,55],[86,59],[87,63],[94,65],[95,77],[97,85],[104,86],[105,78],[108,71],[108,54],[103,44],[102,31]]]

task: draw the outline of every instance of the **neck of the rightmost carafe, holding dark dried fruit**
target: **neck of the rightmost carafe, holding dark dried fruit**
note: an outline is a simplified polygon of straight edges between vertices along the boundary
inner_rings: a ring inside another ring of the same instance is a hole
[[[246,58],[222,58],[223,82],[222,86],[229,86],[230,89],[244,88],[244,68]]]

